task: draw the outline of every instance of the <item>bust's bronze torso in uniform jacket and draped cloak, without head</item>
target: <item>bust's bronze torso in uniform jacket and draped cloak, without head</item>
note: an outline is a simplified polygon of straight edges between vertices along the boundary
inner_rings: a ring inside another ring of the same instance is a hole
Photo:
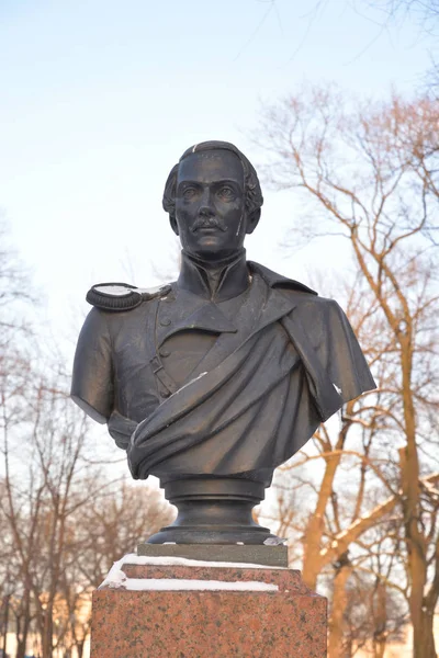
[[[71,395],[109,423],[134,478],[269,484],[322,421],[374,387],[336,302],[241,256],[213,297],[202,268],[183,259],[162,297],[127,311],[93,308]]]

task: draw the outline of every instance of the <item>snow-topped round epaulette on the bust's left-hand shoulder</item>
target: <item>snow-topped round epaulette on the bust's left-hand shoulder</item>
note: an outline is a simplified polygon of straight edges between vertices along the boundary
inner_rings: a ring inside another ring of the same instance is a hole
[[[132,310],[143,302],[162,297],[170,291],[170,285],[139,288],[127,283],[97,283],[89,290],[86,299],[103,310]]]

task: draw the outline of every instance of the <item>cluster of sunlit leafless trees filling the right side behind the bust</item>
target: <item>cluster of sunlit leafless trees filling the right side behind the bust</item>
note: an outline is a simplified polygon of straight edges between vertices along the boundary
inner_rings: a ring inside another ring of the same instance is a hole
[[[375,656],[407,614],[414,656],[436,658],[439,102],[358,103],[305,88],[261,121],[266,179],[302,204],[286,243],[348,240],[353,264],[339,295],[379,383],[281,474],[280,525],[302,541],[307,582],[329,577],[331,658],[363,642],[352,603],[360,577],[381,611],[368,632]]]

